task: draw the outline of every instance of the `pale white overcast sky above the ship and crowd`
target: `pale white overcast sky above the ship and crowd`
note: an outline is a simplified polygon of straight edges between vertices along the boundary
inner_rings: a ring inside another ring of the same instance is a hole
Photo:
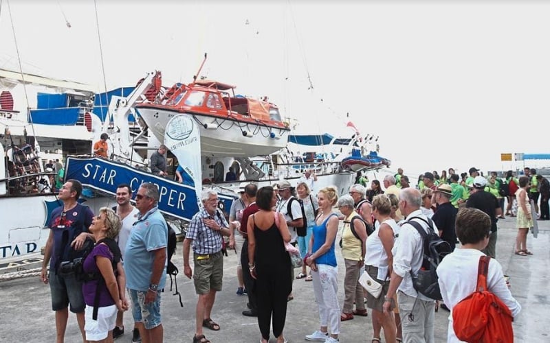
[[[101,91],[155,69],[190,82],[207,52],[201,75],[267,95],[297,132],[349,118],[413,178],[549,153],[550,3],[258,2],[98,0],[96,24],[91,0],[3,0],[0,67],[18,68],[12,23],[25,71]]]

